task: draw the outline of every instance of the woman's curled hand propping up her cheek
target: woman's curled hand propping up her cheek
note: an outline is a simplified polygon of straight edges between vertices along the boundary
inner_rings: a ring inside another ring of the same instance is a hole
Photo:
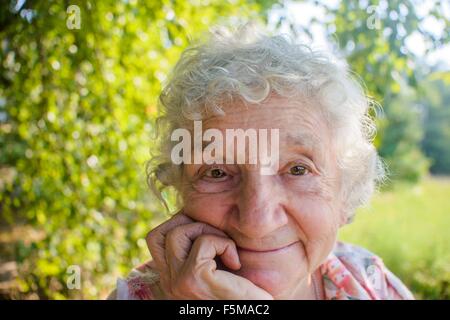
[[[236,244],[211,225],[178,213],[147,235],[147,245],[170,299],[273,299],[249,280],[217,269],[216,256],[231,270],[241,265]]]

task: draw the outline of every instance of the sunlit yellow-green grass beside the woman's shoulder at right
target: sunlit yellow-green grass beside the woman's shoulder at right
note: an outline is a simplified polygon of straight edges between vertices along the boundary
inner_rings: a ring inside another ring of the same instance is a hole
[[[339,238],[379,255],[416,299],[450,299],[450,178],[377,194]]]

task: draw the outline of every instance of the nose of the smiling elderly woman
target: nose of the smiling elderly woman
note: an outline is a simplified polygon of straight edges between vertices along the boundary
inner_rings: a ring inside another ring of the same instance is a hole
[[[249,238],[263,238],[288,223],[281,188],[273,176],[244,179],[236,212],[236,227]]]

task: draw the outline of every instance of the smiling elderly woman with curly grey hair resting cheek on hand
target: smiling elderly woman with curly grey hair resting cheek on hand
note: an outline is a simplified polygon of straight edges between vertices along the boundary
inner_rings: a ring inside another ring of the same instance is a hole
[[[161,153],[149,167],[181,209],[148,234],[153,260],[110,298],[412,299],[379,257],[336,241],[383,178],[371,105],[345,64],[285,36],[219,29],[186,50],[160,96]],[[179,148],[180,128],[200,136],[203,157],[191,157],[191,140]],[[208,130],[214,139],[201,138]],[[247,130],[275,139],[236,147]],[[251,161],[264,146],[275,160]]]

